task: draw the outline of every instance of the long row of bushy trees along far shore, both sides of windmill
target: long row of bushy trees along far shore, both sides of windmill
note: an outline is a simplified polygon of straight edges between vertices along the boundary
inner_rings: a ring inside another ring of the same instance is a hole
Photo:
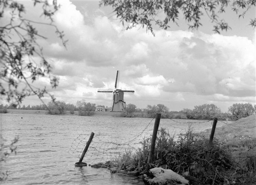
[[[96,105],[95,103],[80,100],[76,105],[65,103],[63,101],[51,101],[48,104],[28,105],[25,106],[10,104],[1,105],[1,113],[7,113],[7,109],[20,109],[20,110],[44,110],[47,114],[74,114],[78,111],[79,116],[91,116],[95,113],[96,107],[104,107],[105,105]],[[106,106],[107,108],[108,106]],[[221,112],[221,109],[214,104],[197,105],[194,109],[182,109],[181,111],[169,111],[169,108],[163,104],[147,105],[146,108],[137,108],[134,104],[125,106],[126,112],[122,112],[122,117],[143,117],[154,118],[157,113],[161,114],[161,118],[174,118],[174,119],[191,119],[191,120],[211,120],[217,117],[219,120],[238,120],[255,114],[256,105],[252,106],[251,103],[234,103],[228,108],[227,112]]]

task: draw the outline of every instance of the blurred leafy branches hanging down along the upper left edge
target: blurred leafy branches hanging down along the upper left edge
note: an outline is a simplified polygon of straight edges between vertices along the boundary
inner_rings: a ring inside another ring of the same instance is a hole
[[[15,104],[20,104],[26,96],[36,95],[41,100],[49,94],[46,88],[32,85],[40,77],[49,78],[53,88],[58,85],[58,78],[50,74],[51,66],[37,42],[37,38],[45,37],[37,31],[36,25],[55,27],[63,45],[66,44],[63,32],[52,24],[52,16],[59,9],[57,1],[52,0],[51,5],[47,0],[33,0],[33,4],[42,4],[42,15],[48,22],[24,18],[26,9],[20,1],[0,1],[0,93],[2,98]],[[35,58],[40,58],[40,61]],[[49,95],[54,100],[54,96]]]

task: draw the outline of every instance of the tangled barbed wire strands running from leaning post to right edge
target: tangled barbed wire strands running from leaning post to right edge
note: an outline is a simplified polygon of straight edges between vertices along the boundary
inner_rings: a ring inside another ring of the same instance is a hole
[[[152,124],[152,121],[155,118],[152,118],[152,120],[150,120],[150,122],[147,123],[147,125],[145,126],[145,128],[139,132],[138,134],[136,134],[135,136],[132,136],[130,138],[119,138],[119,137],[115,137],[112,136],[111,134],[105,134],[105,133],[97,133],[95,134],[93,140],[91,141],[90,144],[90,149],[87,151],[86,153],[86,158],[87,160],[90,160],[91,163],[93,162],[100,162],[100,161],[108,161],[108,160],[113,160],[113,159],[117,159],[120,156],[122,156],[124,154],[125,151],[130,151],[130,152],[134,152],[136,151],[139,147],[141,147],[141,142],[143,142],[143,137],[145,139],[145,135],[149,134],[149,126]],[[214,119],[214,118],[213,118]],[[166,120],[171,120],[172,123],[178,123],[178,124],[186,124],[189,127],[193,124],[198,125],[198,124],[206,124],[206,123],[210,123],[209,128],[206,130],[211,129],[212,125],[213,125],[213,119],[211,120],[205,120],[205,121],[188,121],[186,120],[185,122],[182,121],[177,121],[176,119],[166,119]],[[160,121],[161,122],[161,121]],[[223,123],[224,125],[227,125],[228,127],[238,127],[241,128],[239,126],[236,125],[232,125],[232,124],[228,124],[228,122],[223,122],[223,121],[219,121]],[[187,131],[186,129],[184,129],[184,127],[178,127],[177,125],[172,125],[172,124],[168,124],[168,127],[172,127],[174,128],[174,134],[176,134],[176,131],[179,130],[179,132],[181,131]],[[81,126],[81,124],[80,124]],[[80,127],[79,126],[79,127]],[[243,127],[243,128],[255,128],[254,127]],[[79,130],[79,129],[77,129]],[[205,129],[204,129],[205,130]],[[168,131],[169,132],[169,131]],[[85,145],[87,144],[87,140],[89,139],[90,134],[79,134],[77,138],[74,139],[74,141],[72,142],[70,149],[68,151],[68,153],[76,158],[80,158],[83,149],[85,147]],[[173,135],[174,136],[174,135]]]

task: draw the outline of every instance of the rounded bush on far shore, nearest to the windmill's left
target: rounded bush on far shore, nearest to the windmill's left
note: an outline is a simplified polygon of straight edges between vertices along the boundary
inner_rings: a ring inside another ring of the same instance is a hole
[[[85,100],[80,100],[76,102],[76,105],[79,109],[79,116],[91,116],[95,112],[96,104],[95,103],[86,103]]]

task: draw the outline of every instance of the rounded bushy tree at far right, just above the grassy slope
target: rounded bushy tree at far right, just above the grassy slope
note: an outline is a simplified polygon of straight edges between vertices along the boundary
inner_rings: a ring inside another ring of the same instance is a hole
[[[232,106],[228,107],[228,112],[230,112],[236,120],[250,116],[254,114],[254,111],[254,107],[250,103],[234,103]]]

